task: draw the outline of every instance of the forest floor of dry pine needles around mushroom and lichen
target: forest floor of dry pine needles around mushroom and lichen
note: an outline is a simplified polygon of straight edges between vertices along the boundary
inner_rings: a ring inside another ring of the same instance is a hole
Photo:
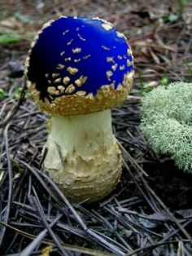
[[[33,37],[60,15],[89,15],[124,33],[133,90],[112,110],[124,169],[102,201],[73,204],[41,172],[46,115],[28,96]],[[192,175],[143,137],[141,100],[169,82],[192,82],[192,2],[0,0],[0,255],[192,255]]]

